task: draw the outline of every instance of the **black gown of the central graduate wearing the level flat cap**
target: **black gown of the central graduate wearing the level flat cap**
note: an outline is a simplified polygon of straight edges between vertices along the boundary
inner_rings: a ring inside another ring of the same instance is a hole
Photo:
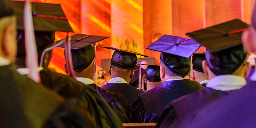
[[[143,93],[139,89],[134,88],[130,84],[126,83],[107,83],[101,88],[123,95],[129,107],[132,106],[135,97]]]

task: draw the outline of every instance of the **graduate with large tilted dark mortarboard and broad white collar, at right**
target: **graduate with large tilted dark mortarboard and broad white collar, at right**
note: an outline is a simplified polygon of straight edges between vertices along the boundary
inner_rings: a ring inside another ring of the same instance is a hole
[[[248,76],[251,66],[246,62],[247,55],[241,44],[242,32],[236,33],[236,38],[226,36],[226,40],[214,41],[208,39],[214,33],[213,31],[205,34],[205,31],[214,30],[214,28],[235,31],[239,28],[247,28],[247,24],[236,19],[188,33],[189,36],[207,48],[202,66],[210,81],[204,90],[198,90],[170,102],[159,118],[157,127],[175,127],[186,118],[194,120],[198,111],[208,107],[221,97],[236,92],[246,84],[245,78]],[[201,37],[204,37],[204,40],[200,40]],[[237,44],[236,42],[240,43]],[[216,46],[220,47],[216,48]],[[220,104],[224,105],[225,102]]]

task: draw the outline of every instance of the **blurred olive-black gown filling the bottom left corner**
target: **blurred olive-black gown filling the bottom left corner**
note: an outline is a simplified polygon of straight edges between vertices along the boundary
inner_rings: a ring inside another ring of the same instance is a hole
[[[63,102],[64,99],[56,92],[34,82],[27,76],[20,75],[13,65],[1,66],[0,71],[1,127],[76,128],[77,126],[95,126],[90,115],[76,111],[78,108],[76,104],[70,106],[68,105],[69,101]],[[63,107],[63,105],[68,106]],[[84,112],[88,112],[88,110],[85,109]],[[62,115],[58,116],[57,113]],[[51,117],[55,117],[54,125],[46,126],[45,124],[51,120]],[[69,123],[67,124],[67,122]]]

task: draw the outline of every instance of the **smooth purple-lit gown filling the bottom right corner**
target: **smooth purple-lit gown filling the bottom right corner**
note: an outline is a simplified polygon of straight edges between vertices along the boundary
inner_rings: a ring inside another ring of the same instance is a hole
[[[256,81],[219,100],[213,101],[194,115],[187,116],[179,128],[253,128],[256,126]]]

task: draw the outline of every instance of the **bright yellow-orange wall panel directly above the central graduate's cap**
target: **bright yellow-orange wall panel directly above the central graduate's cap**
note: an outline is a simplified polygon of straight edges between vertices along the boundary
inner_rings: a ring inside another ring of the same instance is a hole
[[[112,47],[144,53],[142,0],[111,0],[111,30]]]

